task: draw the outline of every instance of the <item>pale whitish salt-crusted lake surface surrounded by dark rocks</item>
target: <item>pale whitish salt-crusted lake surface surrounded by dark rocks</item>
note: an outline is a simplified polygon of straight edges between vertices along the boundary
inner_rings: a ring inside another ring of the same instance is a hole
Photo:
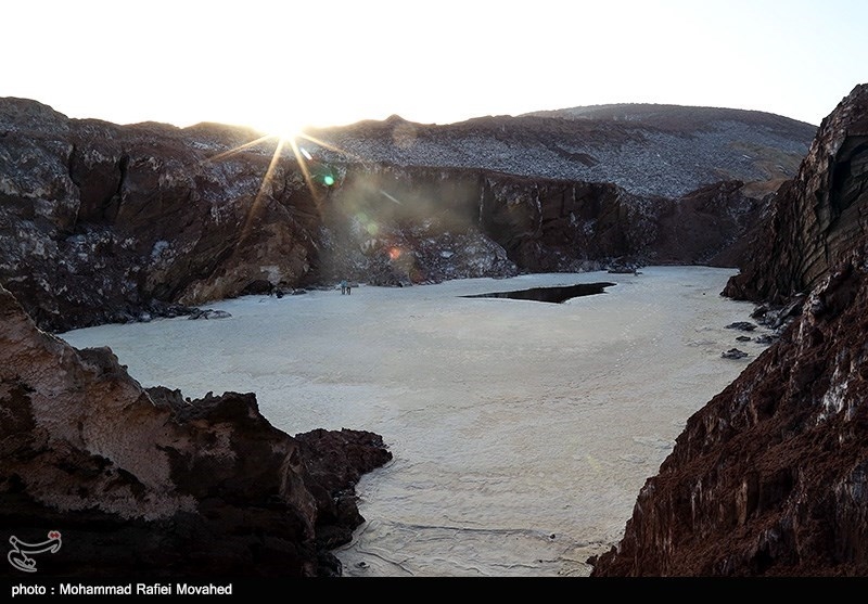
[[[726,329],[754,309],[719,296],[735,272],[335,287],[60,336],[110,346],[143,386],[256,393],[291,435],[382,435],[394,460],[357,486],[345,576],[587,576],[687,419],[764,349]],[[563,304],[461,297],[601,281]],[[720,357],[732,347],[749,357]]]

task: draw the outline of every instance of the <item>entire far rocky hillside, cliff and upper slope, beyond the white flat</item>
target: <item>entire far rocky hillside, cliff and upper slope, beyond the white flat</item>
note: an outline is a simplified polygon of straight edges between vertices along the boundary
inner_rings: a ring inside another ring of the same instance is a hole
[[[38,325],[63,331],[343,278],[733,266],[774,181],[720,181],[769,178],[738,171],[749,163],[731,150],[749,132],[794,154],[810,130],[745,115],[754,121],[735,112],[668,130],[395,118],[315,132],[293,150],[240,128],[122,127],[2,99],[0,283]],[[684,170],[679,154],[709,164]]]

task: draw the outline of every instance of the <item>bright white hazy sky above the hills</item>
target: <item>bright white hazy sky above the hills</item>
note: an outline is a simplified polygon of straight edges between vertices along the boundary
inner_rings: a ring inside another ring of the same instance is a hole
[[[0,97],[269,131],[647,102],[818,125],[868,82],[863,0],[8,0]]]

